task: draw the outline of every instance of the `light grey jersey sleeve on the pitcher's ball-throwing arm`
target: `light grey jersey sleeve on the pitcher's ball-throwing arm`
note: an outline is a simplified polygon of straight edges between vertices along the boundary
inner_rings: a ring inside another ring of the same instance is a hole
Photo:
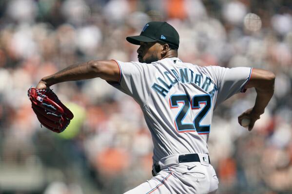
[[[209,69],[209,73],[215,82],[214,84],[217,86],[215,106],[236,93],[245,92],[245,86],[249,82],[253,70],[247,67],[223,68],[209,66],[206,68]]]

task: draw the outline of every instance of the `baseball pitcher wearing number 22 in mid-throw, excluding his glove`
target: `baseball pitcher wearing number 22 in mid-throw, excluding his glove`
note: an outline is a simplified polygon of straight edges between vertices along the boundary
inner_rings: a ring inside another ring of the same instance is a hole
[[[167,22],[147,23],[140,35],[139,62],[93,60],[42,78],[36,89],[100,77],[140,105],[154,143],[153,177],[125,194],[214,194],[218,178],[208,154],[214,109],[232,95],[255,88],[252,108],[238,117],[248,130],[273,96],[273,72],[238,67],[200,67],[181,61],[179,35]]]

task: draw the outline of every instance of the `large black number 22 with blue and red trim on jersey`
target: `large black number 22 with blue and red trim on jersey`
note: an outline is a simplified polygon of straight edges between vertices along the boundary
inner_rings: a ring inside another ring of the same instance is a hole
[[[195,95],[193,96],[191,102],[189,96],[186,94],[174,94],[169,98],[169,105],[171,108],[177,108],[178,103],[182,103],[183,106],[177,113],[175,117],[175,128],[176,130],[181,132],[194,132],[196,131],[198,134],[208,134],[210,132],[210,124],[209,125],[201,125],[201,121],[204,119],[206,114],[209,112],[212,99],[209,94],[203,95]],[[200,104],[205,104],[202,108]],[[193,119],[193,123],[183,123],[184,118],[189,114],[190,109],[201,109],[199,113]]]

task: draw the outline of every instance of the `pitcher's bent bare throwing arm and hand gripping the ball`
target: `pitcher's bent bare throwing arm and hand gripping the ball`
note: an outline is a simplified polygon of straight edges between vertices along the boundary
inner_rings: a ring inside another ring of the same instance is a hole
[[[253,125],[265,112],[265,108],[270,102],[274,93],[275,74],[271,71],[253,68],[252,75],[245,88],[255,88],[256,99],[253,108],[246,110],[238,117],[238,123],[242,119],[250,120],[248,129],[253,129]]]

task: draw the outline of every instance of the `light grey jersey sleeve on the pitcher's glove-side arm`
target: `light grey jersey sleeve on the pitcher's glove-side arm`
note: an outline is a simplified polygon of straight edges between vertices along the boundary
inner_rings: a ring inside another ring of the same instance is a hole
[[[146,63],[115,61],[120,70],[119,83],[108,83],[133,97],[140,106],[143,106],[149,97],[155,68]]]

